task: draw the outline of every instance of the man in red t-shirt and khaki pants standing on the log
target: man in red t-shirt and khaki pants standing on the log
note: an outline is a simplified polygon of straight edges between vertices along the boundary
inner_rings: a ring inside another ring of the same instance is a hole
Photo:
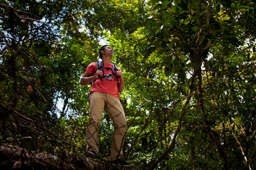
[[[102,46],[99,50],[99,56],[102,59],[101,63],[104,69],[98,70],[97,64],[93,62],[89,64],[83,77],[80,79],[81,85],[93,82],[89,95],[90,117],[86,131],[86,150],[89,154],[95,156],[99,152],[98,130],[102,112],[105,110],[114,123],[110,162],[121,164],[124,167],[131,167],[133,166],[132,163],[122,160],[126,117],[119,101],[119,93],[124,90],[124,77],[120,68],[113,72],[113,64],[111,64],[113,53],[113,49],[110,46]]]

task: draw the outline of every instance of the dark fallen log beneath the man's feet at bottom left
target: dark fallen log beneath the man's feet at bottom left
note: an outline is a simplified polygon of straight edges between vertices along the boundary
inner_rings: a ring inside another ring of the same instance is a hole
[[[85,155],[51,155],[28,151],[18,146],[0,145],[1,170],[135,170],[115,166],[100,158]]]

